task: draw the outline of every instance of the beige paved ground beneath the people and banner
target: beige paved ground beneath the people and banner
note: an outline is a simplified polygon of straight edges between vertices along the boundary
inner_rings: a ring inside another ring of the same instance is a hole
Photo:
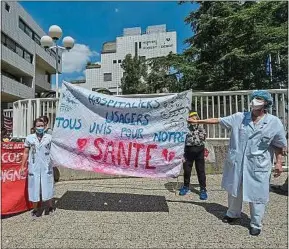
[[[227,194],[220,182],[220,175],[208,176],[208,201],[196,190],[175,195],[176,180],[60,182],[54,216],[33,221],[25,212],[2,220],[2,248],[287,248],[287,196],[270,194],[263,231],[252,237],[247,203],[240,223],[221,222]]]

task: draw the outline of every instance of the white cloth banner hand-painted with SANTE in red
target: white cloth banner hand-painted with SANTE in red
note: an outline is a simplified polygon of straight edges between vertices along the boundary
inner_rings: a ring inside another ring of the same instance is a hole
[[[54,166],[137,177],[176,177],[192,92],[122,98],[62,85],[53,129]]]

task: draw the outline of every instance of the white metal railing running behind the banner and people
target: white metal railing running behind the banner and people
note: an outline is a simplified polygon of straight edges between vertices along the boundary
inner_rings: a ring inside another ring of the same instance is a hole
[[[252,91],[222,91],[222,92],[193,92],[192,109],[199,113],[201,119],[224,117],[235,112],[249,110],[250,94]],[[285,129],[288,129],[286,109],[288,110],[288,95],[285,89],[269,90],[274,98],[274,105],[269,110],[273,115],[278,116]],[[164,94],[163,94],[164,95]],[[162,96],[163,96],[162,95]],[[137,95],[137,98],[160,96],[160,94]],[[123,96],[132,97],[132,95]],[[30,134],[33,120],[39,116],[48,116],[49,127],[53,128],[58,99],[39,98],[18,100],[13,103],[13,136],[26,137]],[[5,115],[12,115],[11,110]],[[208,139],[228,140],[229,134],[220,125],[206,127]]]

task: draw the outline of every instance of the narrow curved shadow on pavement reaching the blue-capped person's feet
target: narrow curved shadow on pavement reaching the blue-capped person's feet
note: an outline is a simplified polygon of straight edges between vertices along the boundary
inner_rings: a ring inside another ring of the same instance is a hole
[[[227,212],[227,207],[218,204],[218,203],[210,203],[210,202],[194,202],[194,201],[172,201],[167,200],[167,202],[179,202],[179,203],[187,203],[193,204],[197,206],[203,207],[208,213],[214,215],[219,220],[222,220],[224,215]],[[232,225],[242,226],[248,228],[250,226],[250,219],[247,214],[241,213],[241,219],[233,223]]]

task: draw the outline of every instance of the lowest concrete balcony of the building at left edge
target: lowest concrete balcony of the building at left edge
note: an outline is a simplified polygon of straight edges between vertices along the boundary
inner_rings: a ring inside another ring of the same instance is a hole
[[[34,89],[1,74],[1,102],[34,98]]]

